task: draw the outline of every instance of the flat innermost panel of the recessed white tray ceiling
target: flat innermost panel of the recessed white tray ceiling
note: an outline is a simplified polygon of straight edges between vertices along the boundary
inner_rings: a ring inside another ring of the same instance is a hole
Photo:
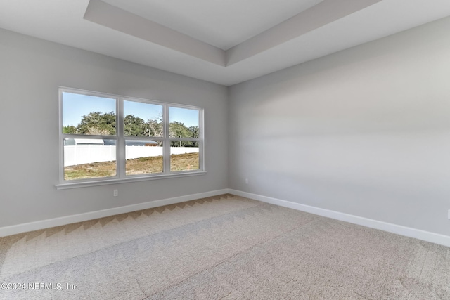
[[[323,0],[103,0],[223,50]]]

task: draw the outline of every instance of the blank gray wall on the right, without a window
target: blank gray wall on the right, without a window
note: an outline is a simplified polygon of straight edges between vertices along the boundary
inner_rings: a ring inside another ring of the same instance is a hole
[[[232,86],[229,124],[230,188],[450,235],[450,18]]]

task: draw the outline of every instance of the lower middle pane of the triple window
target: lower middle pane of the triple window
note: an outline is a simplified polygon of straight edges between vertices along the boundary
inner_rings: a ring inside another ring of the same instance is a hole
[[[162,173],[162,142],[161,141],[125,141],[125,174]]]

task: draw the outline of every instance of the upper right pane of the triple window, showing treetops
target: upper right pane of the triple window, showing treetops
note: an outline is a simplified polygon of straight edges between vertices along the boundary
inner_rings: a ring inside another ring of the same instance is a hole
[[[169,137],[198,138],[198,110],[169,107]]]

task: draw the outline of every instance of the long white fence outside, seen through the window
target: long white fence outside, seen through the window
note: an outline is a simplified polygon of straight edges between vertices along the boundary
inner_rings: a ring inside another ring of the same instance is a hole
[[[196,147],[171,147],[171,154],[184,154],[198,152]],[[127,159],[138,157],[161,156],[162,147],[125,146]],[[89,164],[91,162],[115,161],[114,145],[70,145],[64,146],[64,167],[76,164]]]

